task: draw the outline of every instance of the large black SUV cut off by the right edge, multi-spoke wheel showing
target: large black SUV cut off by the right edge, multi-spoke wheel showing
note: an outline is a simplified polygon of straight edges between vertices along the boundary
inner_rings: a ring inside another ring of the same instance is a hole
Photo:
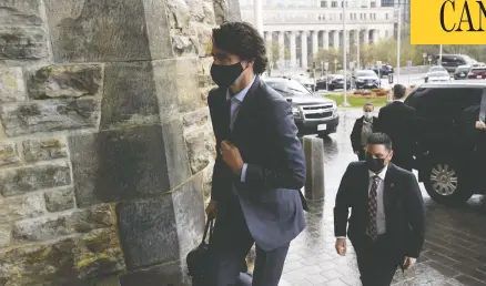
[[[486,112],[486,82],[425,83],[405,103],[417,112],[415,168],[431,197],[454,205],[486,194],[486,131],[475,127]]]

